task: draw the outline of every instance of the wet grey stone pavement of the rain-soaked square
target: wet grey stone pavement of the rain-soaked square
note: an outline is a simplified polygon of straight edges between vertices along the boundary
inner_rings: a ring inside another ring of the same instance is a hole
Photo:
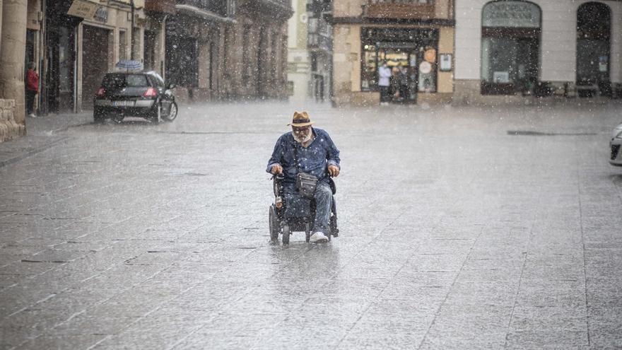
[[[0,144],[0,349],[622,347],[621,106],[307,105],[341,234],[288,246],[264,167],[299,105],[29,120]]]

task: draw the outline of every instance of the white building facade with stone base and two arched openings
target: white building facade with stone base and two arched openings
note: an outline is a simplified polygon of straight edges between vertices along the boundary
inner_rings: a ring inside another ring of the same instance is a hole
[[[622,93],[620,1],[456,1],[458,103]]]

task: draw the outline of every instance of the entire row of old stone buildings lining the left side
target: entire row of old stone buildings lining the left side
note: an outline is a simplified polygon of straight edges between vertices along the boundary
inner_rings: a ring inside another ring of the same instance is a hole
[[[287,97],[291,0],[0,0],[0,10],[0,141],[25,133],[28,62],[41,115],[92,109],[123,59],[176,83],[182,101]]]

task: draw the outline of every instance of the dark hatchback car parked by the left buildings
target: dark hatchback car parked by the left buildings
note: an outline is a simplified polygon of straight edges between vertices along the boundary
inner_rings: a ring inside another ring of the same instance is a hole
[[[143,117],[153,123],[172,122],[177,117],[174,87],[165,85],[155,71],[108,73],[95,95],[93,119],[121,122],[124,117]]]

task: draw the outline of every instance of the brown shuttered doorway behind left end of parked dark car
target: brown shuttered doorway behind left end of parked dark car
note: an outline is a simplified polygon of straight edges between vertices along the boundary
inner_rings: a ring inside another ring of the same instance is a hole
[[[82,109],[93,109],[93,97],[108,71],[110,30],[85,25],[82,46]]]

